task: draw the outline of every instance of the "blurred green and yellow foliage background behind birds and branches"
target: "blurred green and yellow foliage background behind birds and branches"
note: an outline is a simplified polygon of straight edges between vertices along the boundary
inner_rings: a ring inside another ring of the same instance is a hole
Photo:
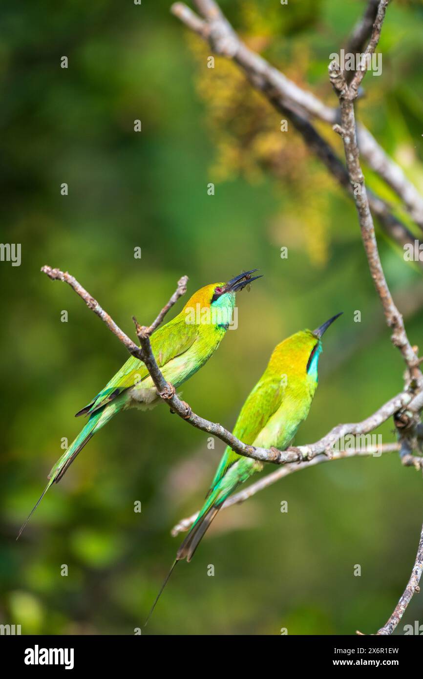
[[[365,3],[221,6],[252,48],[336,105],[329,54],[346,43]],[[128,357],[41,265],[69,270],[131,335],[132,314],[150,323],[182,274],[191,294],[259,267],[264,277],[238,295],[238,329],[183,386],[198,414],[228,428],[276,343],[341,310],[295,443],[365,418],[403,385],[352,201],[293,129],[279,131],[280,114],[234,65],[217,58],[215,69],[206,67],[209,48],[169,7],[2,7],[1,241],[22,244],[22,263],[0,263],[0,623],[22,625],[22,634],[134,634],[183,537],[170,529],[200,507],[223,452],[162,404],[121,414],[45,496],[16,543],[62,438],[70,443],[79,431],[73,415]],[[422,30],[421,2],[392,2],[382,75],[367,76],[358,103],[361,120],[420,190]],[[142,132],[134,132],[136,119]],[[318,127],[341,153],[330,128]],[[64,182],[68,196],[60,195]],[[411,342],[422,345],[422,270],[380,232],[378,241]],[[394,441],[392,422],[377,433]],[[175,570],[146,633],[373,633],[407,583],[421,524],[421,475],[397,454],[301,471],[221,512],[193,561]],[[398,633],[419,619],[415,597]]]

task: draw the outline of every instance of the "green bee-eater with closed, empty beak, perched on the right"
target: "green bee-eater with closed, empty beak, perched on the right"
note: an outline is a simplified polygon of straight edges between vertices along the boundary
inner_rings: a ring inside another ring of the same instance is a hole
[[[255,447],[276,447],[280,450],[288,447],[299,424],[308,416],[316,392],[321,337],[340,315],[329,318],[316,330],[301,330],[276,346],[268,367],[246,399],[236,421],[234,435],[240,441]],[[187,562],[191,560],[226,498],[240,483],[262,468],[262,462],[238,455],[227,446],[206,502],[179,547],[149,617],[177,562],[181,559],[187,559]]]

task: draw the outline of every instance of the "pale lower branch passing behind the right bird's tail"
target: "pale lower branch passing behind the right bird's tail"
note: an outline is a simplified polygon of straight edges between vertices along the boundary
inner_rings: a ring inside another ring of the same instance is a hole
[[[233,504],[240,504],[241,502],[245,502],[245,500],[248,500],[253,495],[258,493],[260,490],[268,488],[273,483],[276,483],[276,481],[284,479],[284,477],[288,476],[289,474],[293,474],[296,471],[301,471],[301,469],[308,469],[308,467],[315,466],[316,464],[321,464],[322,462],[331,462],[333,460],[344,460],[345,458],[369,457],[369,456],[379,457],[384,453],[390,453],[398,450],[399,443],[386,443],[380,446],[368,446],[365,450],[333,451],[331,457],[320,454],[316,455],[316,457],[312,458],[312,460],[284,464],[283,466],[280,467],[280,469],[276,469],[276,471],[273,471],[271,474],[262,477],[261,479],[259,479],[259,481],[251,483],[251,485],[248,485],[240,492],[227,498],[227,500],[222,505],[222,509],[232,507]],[[194,521],[196,520],[197,517],[198,511],[192,514],[191,516],[187,517],[186,519],[181,519],[181,521],[179,521],[179,523],[172,528],[170,534],[173,537],[176,537],[179,533],[182,533],[185,530],[189,530],[192,524],[194,524]]]

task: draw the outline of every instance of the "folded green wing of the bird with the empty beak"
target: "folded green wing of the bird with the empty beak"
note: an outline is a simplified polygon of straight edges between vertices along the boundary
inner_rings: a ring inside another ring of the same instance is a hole
[[[281,382],[278,375],[264,373],[246,399],[238,420],[236,420],[233,433],[237,439],[250,445],[254,443],[263,427],[282,403],[284,388],[284,383]],[[210,486],[209,494],[225,476],[229,467],[241,457],[231,447],[227,446]]]

